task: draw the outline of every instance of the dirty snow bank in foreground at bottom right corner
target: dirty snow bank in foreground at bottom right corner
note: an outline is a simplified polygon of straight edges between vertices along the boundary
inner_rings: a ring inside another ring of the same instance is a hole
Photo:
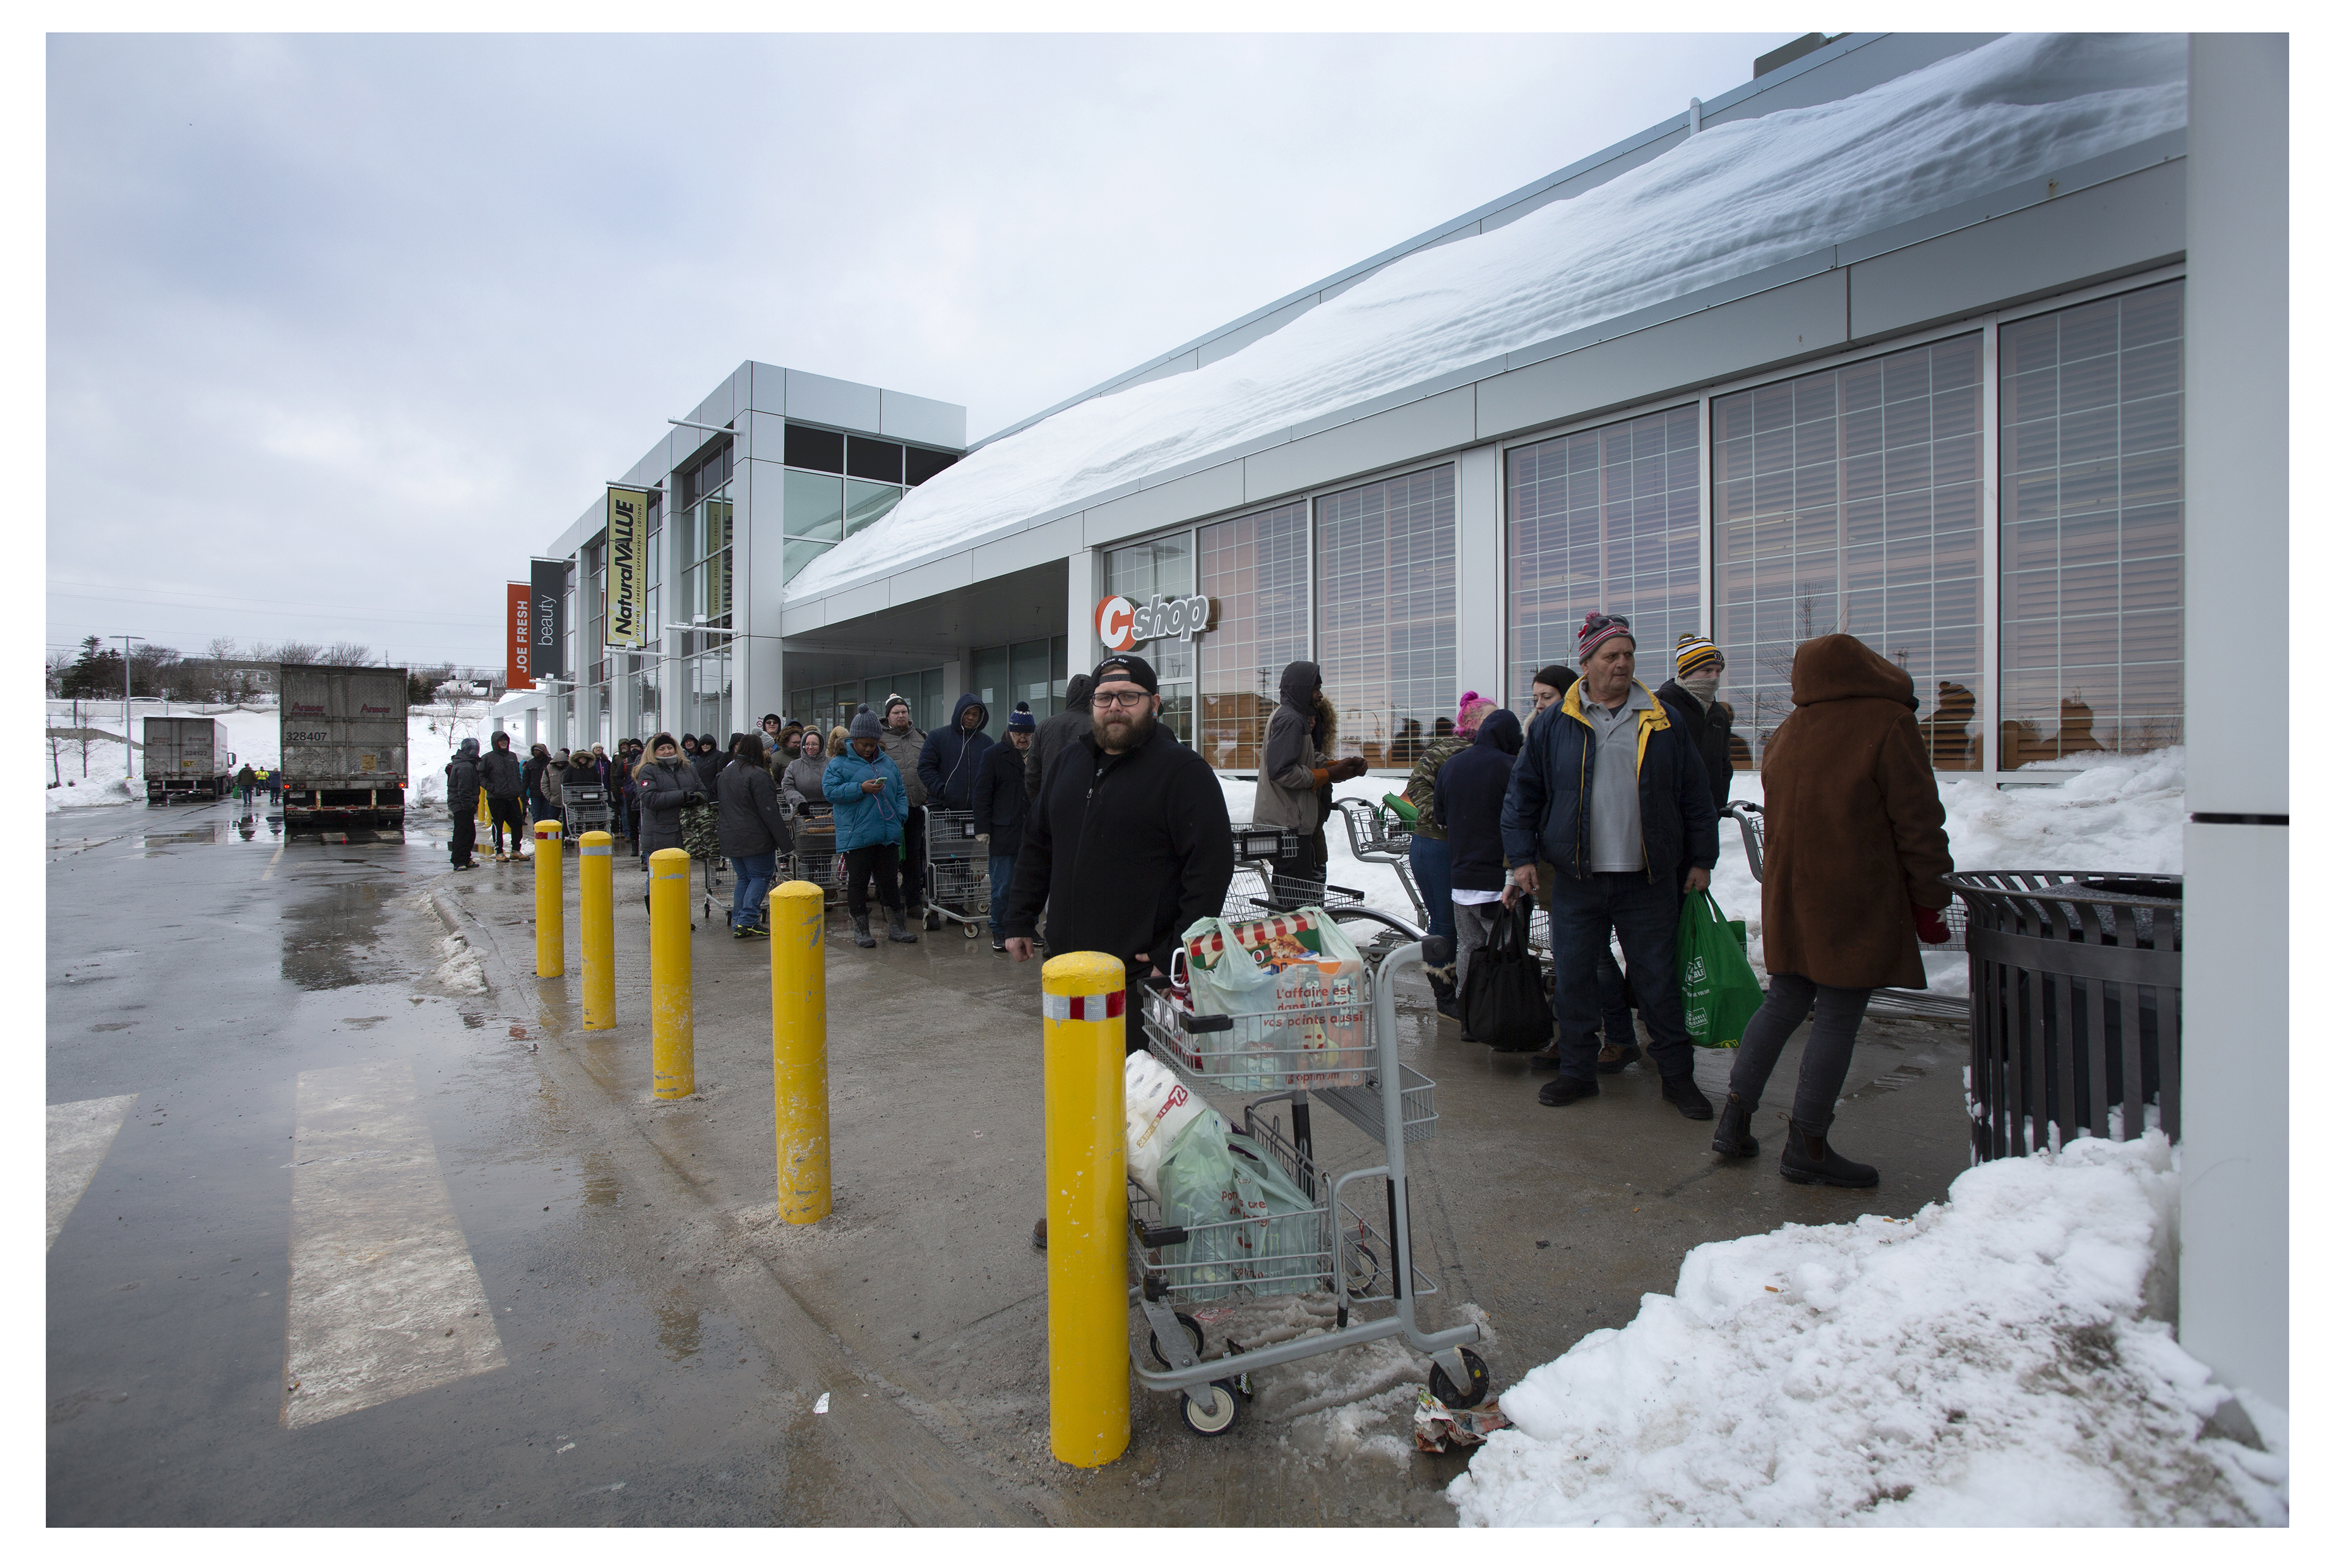
[[[2267,1452],[2144,1291],[2172,1256],[2160,1133],[1967,1170],[1911,1221],[1688,1254],[1502,1396],[1462,1524],[2283,1524]],[[2165,1289],[2167,1282],[2165,1282]]]

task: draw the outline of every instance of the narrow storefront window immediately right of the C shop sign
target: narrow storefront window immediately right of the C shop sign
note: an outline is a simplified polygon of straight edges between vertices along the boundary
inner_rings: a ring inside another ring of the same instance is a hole
[[[1211,523],[1195,540],[1202,591],[1218,600],[1197,654],[1202,756],[1258,768],[1283,665],[1309,654],[1307,503]]]

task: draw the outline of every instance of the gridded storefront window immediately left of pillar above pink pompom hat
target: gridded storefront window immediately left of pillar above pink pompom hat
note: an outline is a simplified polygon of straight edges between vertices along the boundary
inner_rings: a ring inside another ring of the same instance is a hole
[[[1404,768],[1453,728],[1451,463],[1316,500],[1316,621],[1339,751]]]

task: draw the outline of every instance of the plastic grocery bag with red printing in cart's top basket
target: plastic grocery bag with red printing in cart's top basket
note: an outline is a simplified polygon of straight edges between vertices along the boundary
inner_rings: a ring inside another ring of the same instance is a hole
[[[1365,1082],[1365,956],[1318,907],[1186,928],[1195,1012],[1249,1014],[1204,1035],[1221,1089],[1342,1089]],[[1216,1052],[1216,1056],[1214,1056]]]

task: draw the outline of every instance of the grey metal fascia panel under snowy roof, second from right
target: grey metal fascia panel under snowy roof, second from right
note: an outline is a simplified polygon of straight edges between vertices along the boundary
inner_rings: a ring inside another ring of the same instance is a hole
[[[1846,342],[1848,279],[1820,272],[1479,382],[1476,433],[1516,435]]]

